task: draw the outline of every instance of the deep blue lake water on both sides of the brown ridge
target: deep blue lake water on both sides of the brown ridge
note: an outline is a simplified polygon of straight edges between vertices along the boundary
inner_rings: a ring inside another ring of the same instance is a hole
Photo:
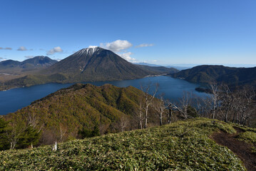
[[[189,91],[198,96],[205,96],[205,93],[199,93],[195,91],[198,84],[189,83],[188,81],[180,80],[177,78],[171,78],[169,76],[157,76],[147,77],[136,80],[127,81],[103,81],[103,82],[91,82],[95,86],[102,86],[103,84],[111,83],[118,87],[133,86],[139,88],[141,85],[148,85],[150,83],[153,87],[155,83],[159,84],[158,95],[164,93],[165,98],[170,100],[178,100],[183,96],[184,91]],[[73,85],[48,83],[38,86],[31,86],[26,88],[14,88],[11,90],[0,91],[0,115],[6,115],[7,113],[13,113],[20,108],[24,108],[30,105],[34,100],[45,97],[46,95],[55,92],[61,88],[67,88]]]

